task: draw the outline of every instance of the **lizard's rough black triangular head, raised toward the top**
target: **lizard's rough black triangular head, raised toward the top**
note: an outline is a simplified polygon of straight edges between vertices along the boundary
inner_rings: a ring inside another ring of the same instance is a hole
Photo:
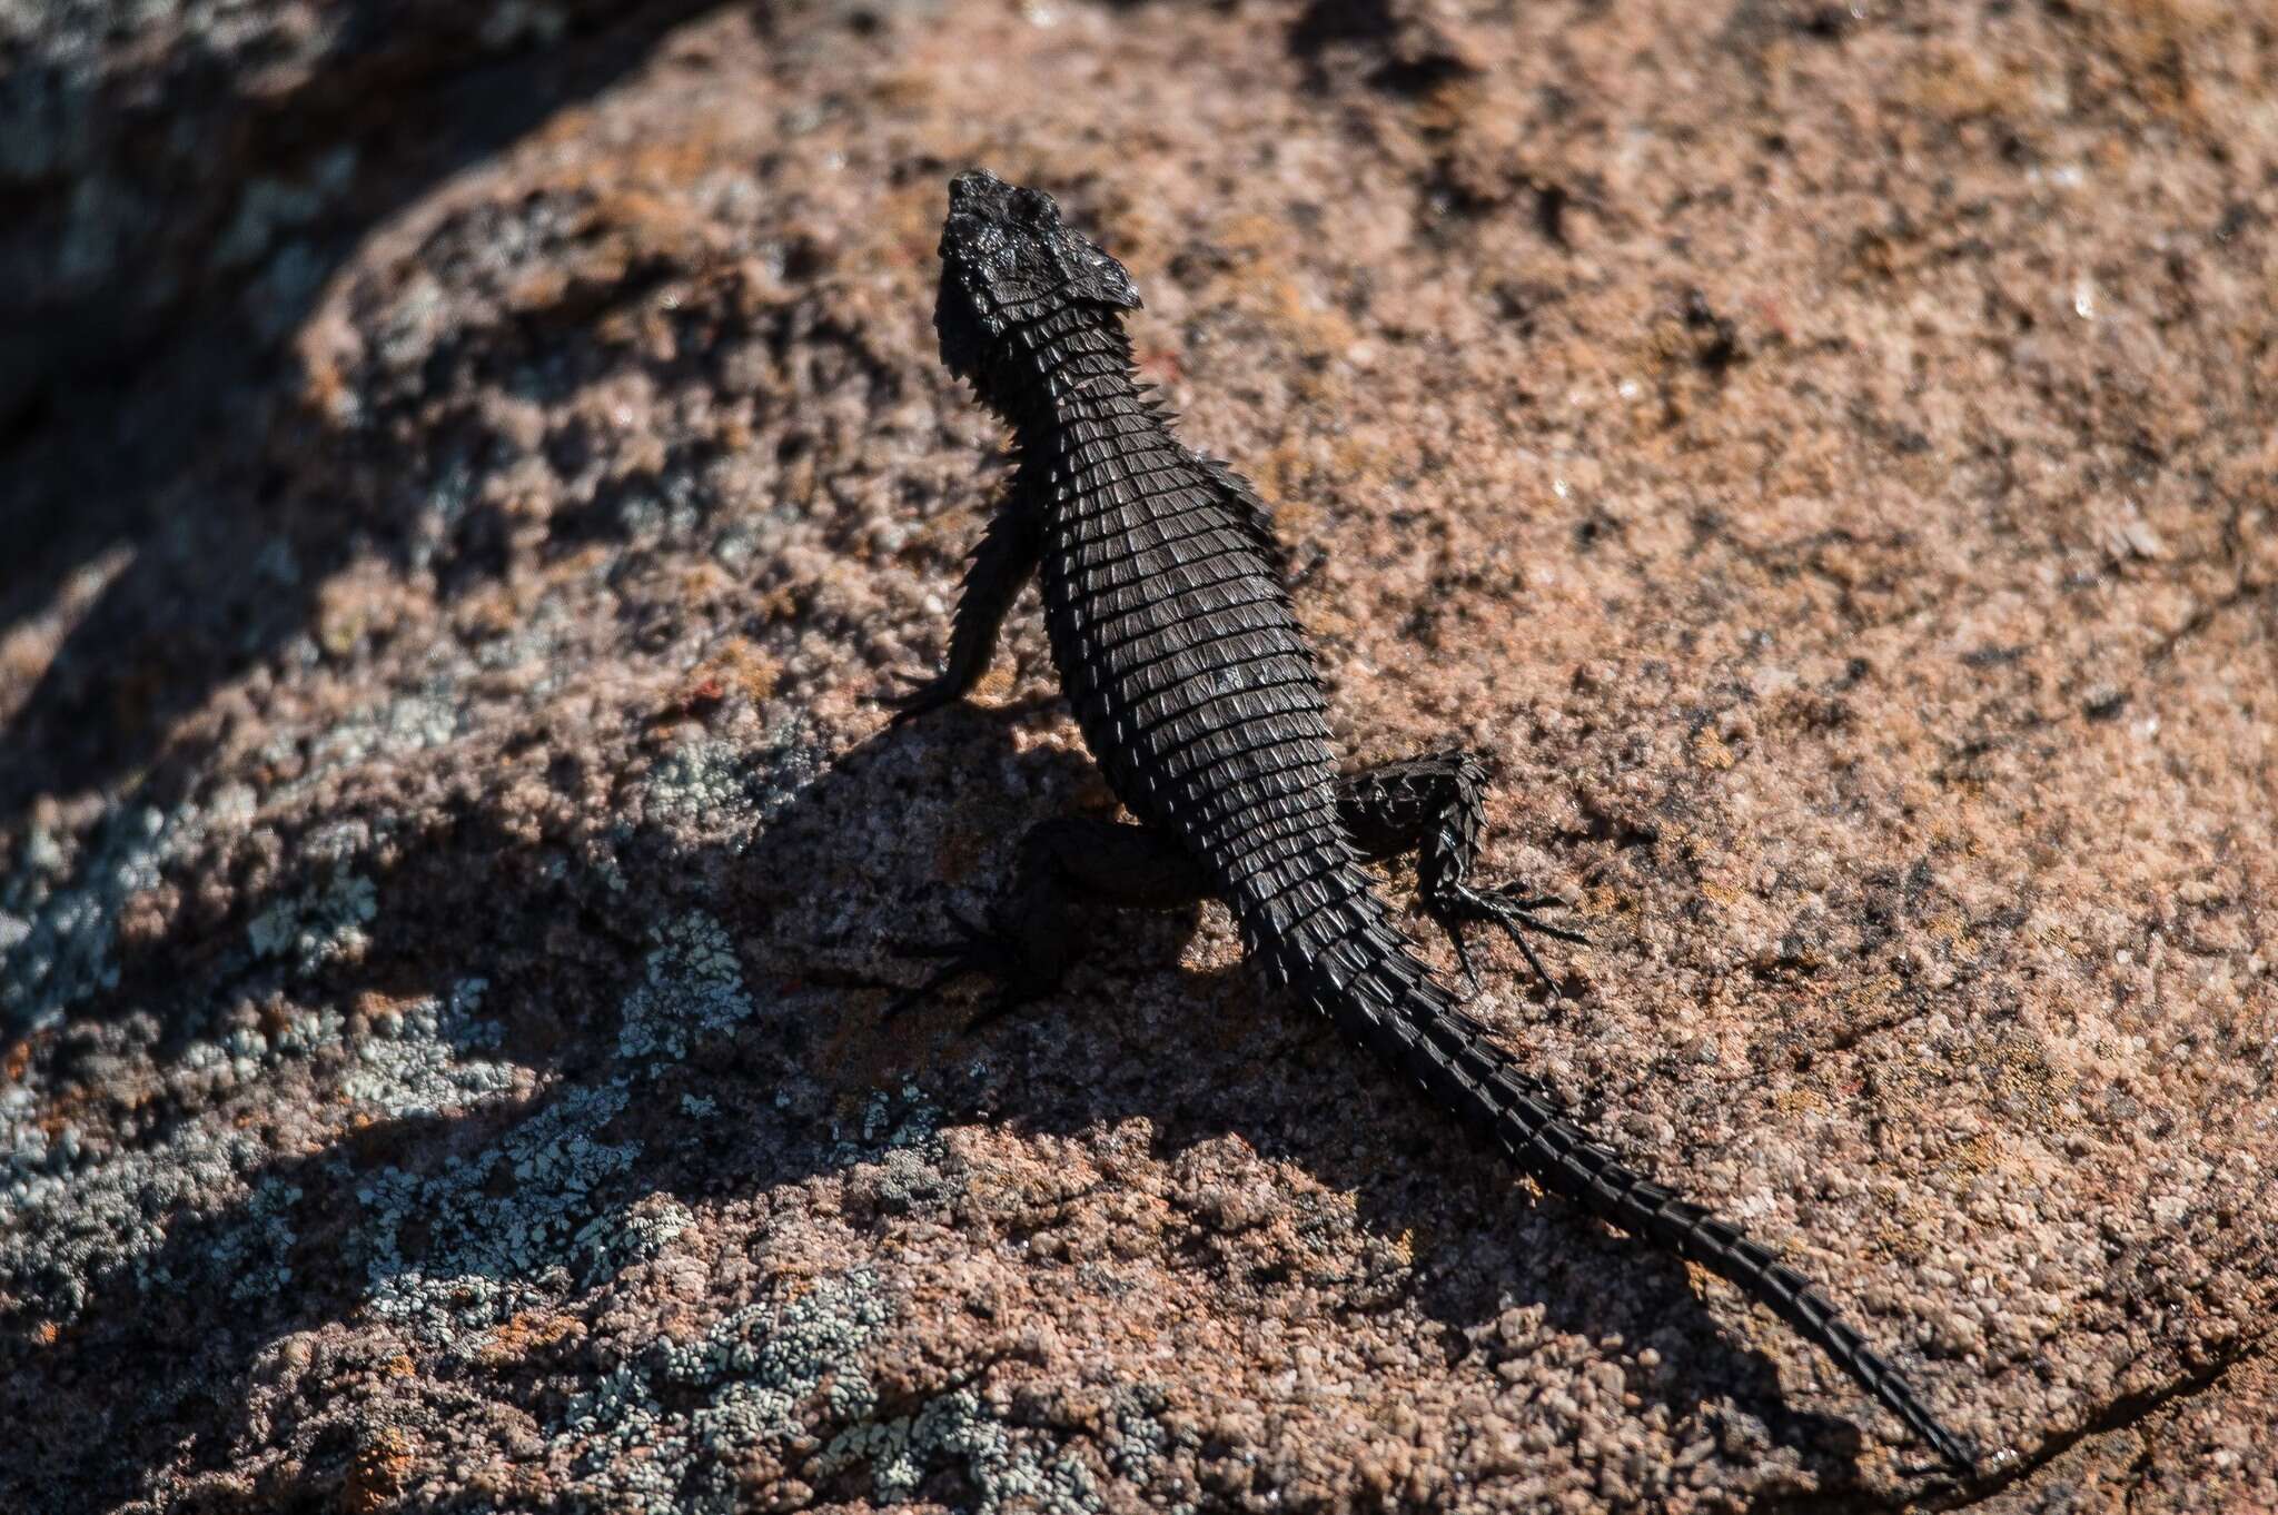
[[[1018,326],[1073,305],[1137,310],[1139,289],[1114,257],[1059,219],[1052,196],[986,169],[950,180],[941,223],[941,362],[989,399],[991,358]]]

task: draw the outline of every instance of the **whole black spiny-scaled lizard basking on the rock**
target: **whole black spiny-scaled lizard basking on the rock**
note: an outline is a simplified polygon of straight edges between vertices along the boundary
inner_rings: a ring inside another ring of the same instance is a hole
[[[1014,431],[1018,469],[966,576],[945,670],[902,718],[964,697],[1030,576],[1084,740],[1137,825],[1048,820],[1021,847],[989,923],[934,950],[1005,982],[1000,1007],[1068,966],[1075,900],[1223,900],[1267,973],[1499,1141],[1542,1187],[1652,1237],[1763,1301],[1950,1465],[1970,1453],[1795,1269],[1731,1223],[1647,1182],[1558,1114],[1433,982],[1362,870],[1417,850],[1424,907],[1453,936],[1501,925],[1581,941],[1554,900],[1472,882],[1481,768],[1467,756],[1339,777],[1312,649],[1271,522],[1221,462],[1187,451],[1132,374],[1123,264],[1068,230],[1052,200],[989,173],[950,182],[934,328],[941,360]]]

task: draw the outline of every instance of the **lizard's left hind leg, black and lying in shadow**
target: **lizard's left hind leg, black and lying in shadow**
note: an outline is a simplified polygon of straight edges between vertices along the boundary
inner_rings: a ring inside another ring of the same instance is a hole
[[[943,959],[923,984],[886,1007],[898,1016],[966,975],[998,980],[973,1032],[1059,986],[1077,957],[1077,909],[1087,902],[1128,909],[1178,909],[1210,895],[1210,875],[1175,838],[1118,820],[1059,818],[1021,838],[1011,886],[986,920],[959,918],[959,936],[904,943],[902,957]]]

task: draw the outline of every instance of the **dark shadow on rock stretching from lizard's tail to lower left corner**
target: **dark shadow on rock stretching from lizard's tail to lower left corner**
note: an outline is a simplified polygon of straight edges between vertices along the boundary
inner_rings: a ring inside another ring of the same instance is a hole
[[[743,1198],[877,1162],[875,1141],[847,1135],[861,1125],[850,1116],[909,1082],[948,1125],[1000,1121],[1073,1137],[1146,1116],[1166,1153],[1235,1135],[1330,1191],[1358,1194],[1365,1233],[1426,1239],[1415,1264],[1392,1274],[1385,1299],[1353,1308],[1412,1303],[1449,1326],[1458,1360],[1488,1351],[1506,1308],[1540,1305],[1547,1330],[1590,1340],[1622,1333],[1642,1344],[1677,1330],[1704,1356],[1638,1383],[1645,1403],[1681,1415],[1734,1394],[1777,1438],[1806,1444],[1829,1488],[1854,1479],[1841,1424],[1786,1412],[1770,1362],[1722,1333],[1679,1262],[1567,1205],[1529,1203],[1499,1155],[1467,1144],[1451,1116],[1428,1112],[1403,1080],[1246,968],[1180,973],[1191,911],[1103,920],[1064,991],[977,1037],[957,1032],[964,993],[882,1021],[891,989],[877,980],[909,982],[923,968],[893,964],[868,927],[831,939],[800,911],[829,893],[845,904],[841,918],[907,920],[907,934],[927,936],[952,904],[984,898],[989,870],[1009,861],[1021,829],[1050,813],[1007,795],[1002,775],[1048,795],[1087,784],[1089,763],[1073,752],[1016,756],[1014,720],[954,711],[884,731],[788,797],[745,847],[688,850],[663,832],[633,832],[617,845],[622,886],[581,870],[572,847],[531,843],[485,811],[405,843],[376,875],[369,950],[328,993],[303,998],[369,1005],[485,977],[478,1014],[494,1032],[460,1027],[458,1048],[490,1048],[540,1073],[538,1091],[335,1119],[314,1150],[280,1150],[244,1173],[248,1198],[173,1214],[141,1280],[137,1269],[84,1280],[87,1308],[59,1324],[43,1319],[39,1294],[0,1315],[0,1424],[11,1426],[0,1506],[39,1508],[71,1490],[75,1506],[98,1508],[146,1492],[162,1469],[232,1467],[280,1337],[362,1312],[487,1308],[492,1294],[508,1305],[570,1303],[615,1267],[576,1239],[588,1221],[622,1221],[649,1196]],[[945,852],[973,852],[970,877],[943,866]],[[232,945],[246,918],[326,875],[328,866],[308,866],[264,900],[244,900],[210,934],[216,941],[153,943],[121,996],[155,1009],[164,1005],[153,996],[171,996],[171,1014],[194,1021],[200,998],[230,993],[246,975]],[[626,1050],[620,1012],[654,977],[652,955],[670,943],[672,920],[690,911],[715,918],[736,943],[749,1016],[652,1071]],[[1173,975],[1166,998],[1178,1005],[1130,1009],[1160,998],[1118,993],[1146,973]],[[1087,1000],[1118,1009],[1087,1014]],[[87,1023],[75,1016],[75,1027]],[[369,1046],[364,1034],[319,1055],[353,1068]],[[141,1130],[166,1135],[162,1119]],[[592,1164],[576,1182],[549,1178],[544,1150],[556,1132],[574,1132],[581,1162]],[[547,1207],[549,1182],[558,1217]],[[533,1217],[535,1251],[492,1246]],[[879,1239],[900,1221],[854,1210],[847,1219]],[[1223,1269],[1230,1255],[1205,1235],[1189,1262],[1169,1264]],[[246,1285],[276,1267],[289,1267],[289,1278]],[[1228,1276],[1223,1287],[1239,1294],[1260,1280]],[[474,1305],[453,1303],[467,1299]],[[451,1371],[481,1371],[467,1362],[460,1356]],[[551,1426],[565,1406],[544,1376],[522,1371],[522,1390],[508,1394],[522,1392],[538,1424]],[[278,1412],[301,1410],[264,1410],[264,1442],[294,1435]],[[1843,1451],[1820,1451],[1827,1444]],[[326,1501],[346,1490],[353,1453],[337,1433],[312,1431],[289,1488],[269,1490],[271,1504],[335,1508]]]

